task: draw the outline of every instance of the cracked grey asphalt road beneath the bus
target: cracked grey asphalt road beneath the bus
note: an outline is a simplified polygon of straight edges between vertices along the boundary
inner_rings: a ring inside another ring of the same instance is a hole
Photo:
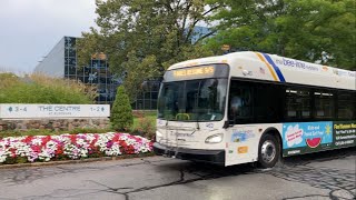
[[[355,199],[356,149],[284,159],[261,170],[151,157],[0,169],[0,199]]]

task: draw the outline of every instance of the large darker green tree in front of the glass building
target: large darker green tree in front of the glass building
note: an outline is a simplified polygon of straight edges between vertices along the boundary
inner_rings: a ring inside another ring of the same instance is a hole
[[[212,54],[195,27],[207,24],[217,9],[205,0],[97,0],[99,30],[91,28],[78,42],[79,62],[87,63],[93,52],[108,54],[112,72],[125,74],[123,84],[130,99],[145,80],[162,76],[170,64]]]

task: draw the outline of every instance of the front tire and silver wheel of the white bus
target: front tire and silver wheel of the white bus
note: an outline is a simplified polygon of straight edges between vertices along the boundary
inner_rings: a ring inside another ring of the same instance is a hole
[[[278,139],[271,134],[263,134],[258,146],[258,163],[261,168],[273,168],[280,156]]]

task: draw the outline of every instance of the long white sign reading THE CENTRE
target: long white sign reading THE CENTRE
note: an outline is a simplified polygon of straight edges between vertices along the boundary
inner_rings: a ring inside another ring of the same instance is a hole
[[[109,104],[0,104],[0,119],[108,117]]]

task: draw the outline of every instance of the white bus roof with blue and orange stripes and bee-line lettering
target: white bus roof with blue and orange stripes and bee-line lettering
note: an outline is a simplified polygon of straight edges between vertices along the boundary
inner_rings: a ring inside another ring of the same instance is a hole
[[[188,60],[168,70],[212,63],[229,64],[236,78],[356,90],[355,71],[255,51]]]

